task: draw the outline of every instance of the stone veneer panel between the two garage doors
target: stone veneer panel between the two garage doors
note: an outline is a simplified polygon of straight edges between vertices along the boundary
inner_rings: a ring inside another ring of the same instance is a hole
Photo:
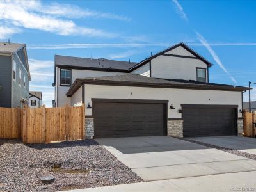
[[[168,120],[167,134],[168,136],[183,138],[183,120]]]

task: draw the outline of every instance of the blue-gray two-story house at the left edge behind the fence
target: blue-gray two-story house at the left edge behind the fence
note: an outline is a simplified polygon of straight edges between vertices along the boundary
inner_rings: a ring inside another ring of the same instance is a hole
[[[29,81],[26,45],[0,42],[0,107],[28,104]]]

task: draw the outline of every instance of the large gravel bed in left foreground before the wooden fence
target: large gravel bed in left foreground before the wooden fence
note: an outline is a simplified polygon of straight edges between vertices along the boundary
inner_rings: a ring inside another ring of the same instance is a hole
[[[94,140],[24,145],[0,140],[0,191],[61,191],[142,182]],[[41,177],[53,176],[52,184]]]

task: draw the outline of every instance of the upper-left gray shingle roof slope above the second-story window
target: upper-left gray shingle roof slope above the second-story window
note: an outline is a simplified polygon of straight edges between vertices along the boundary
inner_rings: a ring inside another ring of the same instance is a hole
[[[55,65],[60,67],[84,68],[94,70],[125,71],[137,63],[127,61],[108,60],[105,58],[78,58],[72,56],[55,55]]]

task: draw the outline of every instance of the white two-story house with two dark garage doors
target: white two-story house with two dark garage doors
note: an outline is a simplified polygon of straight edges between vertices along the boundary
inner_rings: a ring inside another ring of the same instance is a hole
[[[54,103],[84,103],[88,137],[241,134],[248,88],[209,83],[211,66],[183,43],[140,63],[56,55]]]

